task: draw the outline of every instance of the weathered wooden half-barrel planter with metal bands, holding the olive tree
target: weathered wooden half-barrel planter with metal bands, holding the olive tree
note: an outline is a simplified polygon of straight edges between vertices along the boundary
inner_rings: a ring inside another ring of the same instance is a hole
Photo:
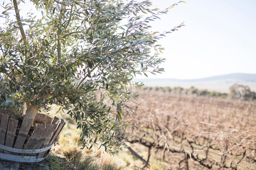
[[[4,160],[44,160],[66,124],[63,119],[41,113],[37,113],[34,122],[32,118],[24,117],[23,120],[18,120],[10,118],[10,115],[0,114],[0,159]]]

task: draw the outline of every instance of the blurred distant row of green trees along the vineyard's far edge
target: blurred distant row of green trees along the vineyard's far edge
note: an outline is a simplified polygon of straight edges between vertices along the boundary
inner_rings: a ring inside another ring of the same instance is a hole
[[[172,92],[174,94],[196,94],[198,96],[208,96],[208,97],[221,97],[221,98],[232,98],[232,99],[241,99],[241,100],[253,100],[256,99],[256,93],[251,92],[248,86],[234,84],[229,88],[229,93],[221,93],[216,91],[208,91],[206,89],[200,90],[194,86],[191,86],[188,89],[182,87],[143,87],[144,90],[154,90],[154,91],[163,91],[163,92]]]

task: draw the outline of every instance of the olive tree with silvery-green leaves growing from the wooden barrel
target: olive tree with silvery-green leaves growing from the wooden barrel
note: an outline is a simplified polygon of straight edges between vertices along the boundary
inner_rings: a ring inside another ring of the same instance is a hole
[[[116,132],[123,126],[111,109],[138,96],[129,90],[142,85],[132,81],[134,76],[164,70],[159,67],[164,58],[158,56],[163,48],[157,40],[183,26],[158,33],[150,31],[150,22],[183,1],[164,10],[152,8],[150,1],[31,2],[42,15],[20,16],[22,0],[2,4],[2,109],[8,98],[20,103],[11,107],[26,108],[24,116],[35,118],[38,110],[56,104],[57,112],[66,110],[76,120],[84,147],[99,142],[117,146]],[[13,11],[15,19],[10,17]],[[100,101],[94,97],[97,90],[102,91]],[[118,115],[121,120],[121,111]]]

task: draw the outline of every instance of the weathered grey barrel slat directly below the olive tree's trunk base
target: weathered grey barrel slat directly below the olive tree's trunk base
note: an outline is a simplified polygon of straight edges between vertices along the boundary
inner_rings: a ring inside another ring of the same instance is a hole
[[[24,117],[23,122],[20,127],[19,134],[16,138],[13,148],[21,149],[28,135],[29,129],[33,123],[33,119],[29,117]],[[15,153],[13,153],[15,154]]]

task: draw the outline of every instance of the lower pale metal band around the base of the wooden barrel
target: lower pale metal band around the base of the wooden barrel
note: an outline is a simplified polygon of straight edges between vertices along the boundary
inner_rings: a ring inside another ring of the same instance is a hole
[[[20,155],[10,155],[6,153],[0,153],[0,159],[16,161],[16,162],[30,162],[30,163],[40,162],[46,158],[47,156],[43,158],[36,158],[36,156],[20,156]]]

